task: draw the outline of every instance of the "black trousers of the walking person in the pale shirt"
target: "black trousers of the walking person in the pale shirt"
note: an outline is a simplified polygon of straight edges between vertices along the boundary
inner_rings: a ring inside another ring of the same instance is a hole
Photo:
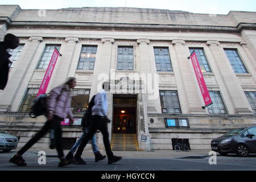
[[[100,130],[103,135],[103,142],[106,150],[106,155],[108,158],[113,157],[113,152],[110,148],[109,143],[109,133],[108,133],[108,126],[106,123],[106,119],[100,115],[92,115],[92,124],[89,127],[88,134],[85,136],[85,138],[82,139],[81,144],[79,148],[76,151],[75,158],[81,158],[82,151],[84,151],[84,147],[88,143],[89,139],[93,137],[93,135],[96,133],[97,130]]]

